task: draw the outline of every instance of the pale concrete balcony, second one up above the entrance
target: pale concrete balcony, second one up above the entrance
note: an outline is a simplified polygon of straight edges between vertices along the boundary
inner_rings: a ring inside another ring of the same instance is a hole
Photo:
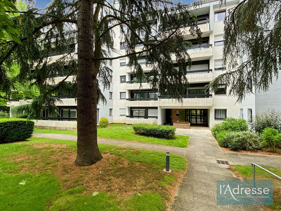
[[[186,75],[188,82],[208,82],[212,81],[212,69],[191,70]]]

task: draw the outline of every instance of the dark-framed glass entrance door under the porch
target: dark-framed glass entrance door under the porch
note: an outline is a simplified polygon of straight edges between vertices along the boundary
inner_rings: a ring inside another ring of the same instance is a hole
[[[191,125],[208,125],[207,109],[185,109],[186,120]]]

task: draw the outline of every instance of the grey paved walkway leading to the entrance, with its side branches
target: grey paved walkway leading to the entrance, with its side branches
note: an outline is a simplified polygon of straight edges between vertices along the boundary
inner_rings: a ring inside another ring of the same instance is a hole
[[[281,156],[255,155],[222,152],[208,128],[198,127],[190,130],[177,129],[177,134],[189,136],[187,148],[169,147],[158,144],[128,142],[98,138],[98,143],[130,147],[151,151],[171,152],[187,158],[188,169],[177,189],[175,201],[170,205],[173,211],[248,211],[261,210],[260,206],[217,206],[216,181],[238,180],[228,169],[228,165],[217,164],[216,160],[226,160],[230,165],[259,165],[281,168]],[[34,137],[76,141],[77,136],[52,133],[33,133]]]

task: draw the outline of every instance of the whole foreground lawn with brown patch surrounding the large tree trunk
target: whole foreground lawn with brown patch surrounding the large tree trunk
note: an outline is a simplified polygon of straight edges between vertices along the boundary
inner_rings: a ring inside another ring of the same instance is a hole
[[[99,145],[103,159],[76,167],[76,143],[46,138],[0,145],[0,210],[166,210],[186,159]]]

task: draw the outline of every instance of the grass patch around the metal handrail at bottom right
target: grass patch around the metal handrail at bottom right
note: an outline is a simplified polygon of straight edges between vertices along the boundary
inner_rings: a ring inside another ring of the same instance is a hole
[[[281,175],[281,169],[262,166],[274,174]],[[253,167],[250,165],[235,165],[231,167],[233,173],[243,180],[253,180]],[[256,167],[256,180],[273,180],[273,205],[262,205],[264,210],[281,210],[281,181]]]

